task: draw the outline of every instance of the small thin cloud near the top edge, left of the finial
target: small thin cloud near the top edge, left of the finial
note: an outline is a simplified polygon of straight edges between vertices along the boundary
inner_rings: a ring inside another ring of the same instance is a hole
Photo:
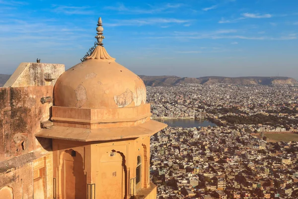
[[[54,8],[51,9],[52,12],[64,13],[64,14],[82,14],[88,15],[93,14],[93,10],[90,6],[66,6],[66,5],[53,5]]]

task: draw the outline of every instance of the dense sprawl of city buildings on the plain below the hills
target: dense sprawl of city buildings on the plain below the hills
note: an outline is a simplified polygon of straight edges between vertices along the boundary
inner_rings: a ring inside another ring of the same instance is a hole
[[[167,127],[151,137],[157,198],[298,198],[297,85],[191,84],[147,92],[152,117],[217,124]]]

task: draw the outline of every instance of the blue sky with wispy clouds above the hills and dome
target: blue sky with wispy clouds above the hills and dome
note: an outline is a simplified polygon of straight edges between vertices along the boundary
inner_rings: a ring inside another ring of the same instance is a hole
[[[104,46],[139,75],[298,79],[298,0],[0,0],[0,73]]]

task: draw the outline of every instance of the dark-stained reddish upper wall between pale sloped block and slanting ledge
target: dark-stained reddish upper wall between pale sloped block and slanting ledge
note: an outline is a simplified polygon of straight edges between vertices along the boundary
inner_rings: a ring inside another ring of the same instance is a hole
[[[53,103],[40,99],[52,93],[52,86],[0,88],[0,161],[41,148],[34,134],[49,120]]]

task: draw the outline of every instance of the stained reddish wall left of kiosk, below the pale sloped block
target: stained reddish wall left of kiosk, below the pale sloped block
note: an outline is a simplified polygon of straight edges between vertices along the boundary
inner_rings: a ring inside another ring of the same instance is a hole
[[[47,182],[43,192],[52,197],[51,139],[34,136],[50,118],[52,102],[43,97],[53,98],[53,86],[0,88],[0,190],[8,187],[3,190],[11,189],[14,199],[33,198],[39,171],[36,179]]]

